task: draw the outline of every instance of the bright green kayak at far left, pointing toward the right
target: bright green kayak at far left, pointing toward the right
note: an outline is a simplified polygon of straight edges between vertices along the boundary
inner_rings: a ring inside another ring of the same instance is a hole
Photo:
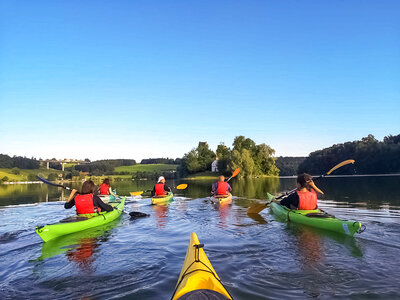
[[[62,235],[110,223],[121,215],[125,206],[125,199],[126,197],[118,202],[109,202],[109,205],[116,208],[113,211],[93,215],[74,216],[56,224],[36,226],[35,231],[44,242],[47,242]]]

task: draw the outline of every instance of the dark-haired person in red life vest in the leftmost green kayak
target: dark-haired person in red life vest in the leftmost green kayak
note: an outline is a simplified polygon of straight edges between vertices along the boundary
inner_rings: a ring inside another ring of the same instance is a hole
[[[101,199],[93,195],[96,191],[96,186],[93,181],[87,180],[82,184],[81,192],[75,195],[77,190],[73,189],[64,208],[70,209],[76,207],[76,213],[93,214],[101,211],[112,211],[114,208],[111,205],[105,204]]]

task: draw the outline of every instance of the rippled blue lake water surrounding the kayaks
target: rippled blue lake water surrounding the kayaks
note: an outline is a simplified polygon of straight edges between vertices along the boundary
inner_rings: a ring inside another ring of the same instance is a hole
[[[173,182],[175,186],[184,181]],[[150,214],[43,243],[34,232],[73,215],[63,190],[0,185],[0,299],[169,299],[191,232],[235,299],[399,299],[400,176],[330,177],[320,207],[367,226],[354,238],[275,221],[246,208],[295,179],[232,181],[231,206],[209,203],[212,181],[186,181],[169,206],[128,198],[126,211]],[[152,182],[119,182],[120,195]]]

